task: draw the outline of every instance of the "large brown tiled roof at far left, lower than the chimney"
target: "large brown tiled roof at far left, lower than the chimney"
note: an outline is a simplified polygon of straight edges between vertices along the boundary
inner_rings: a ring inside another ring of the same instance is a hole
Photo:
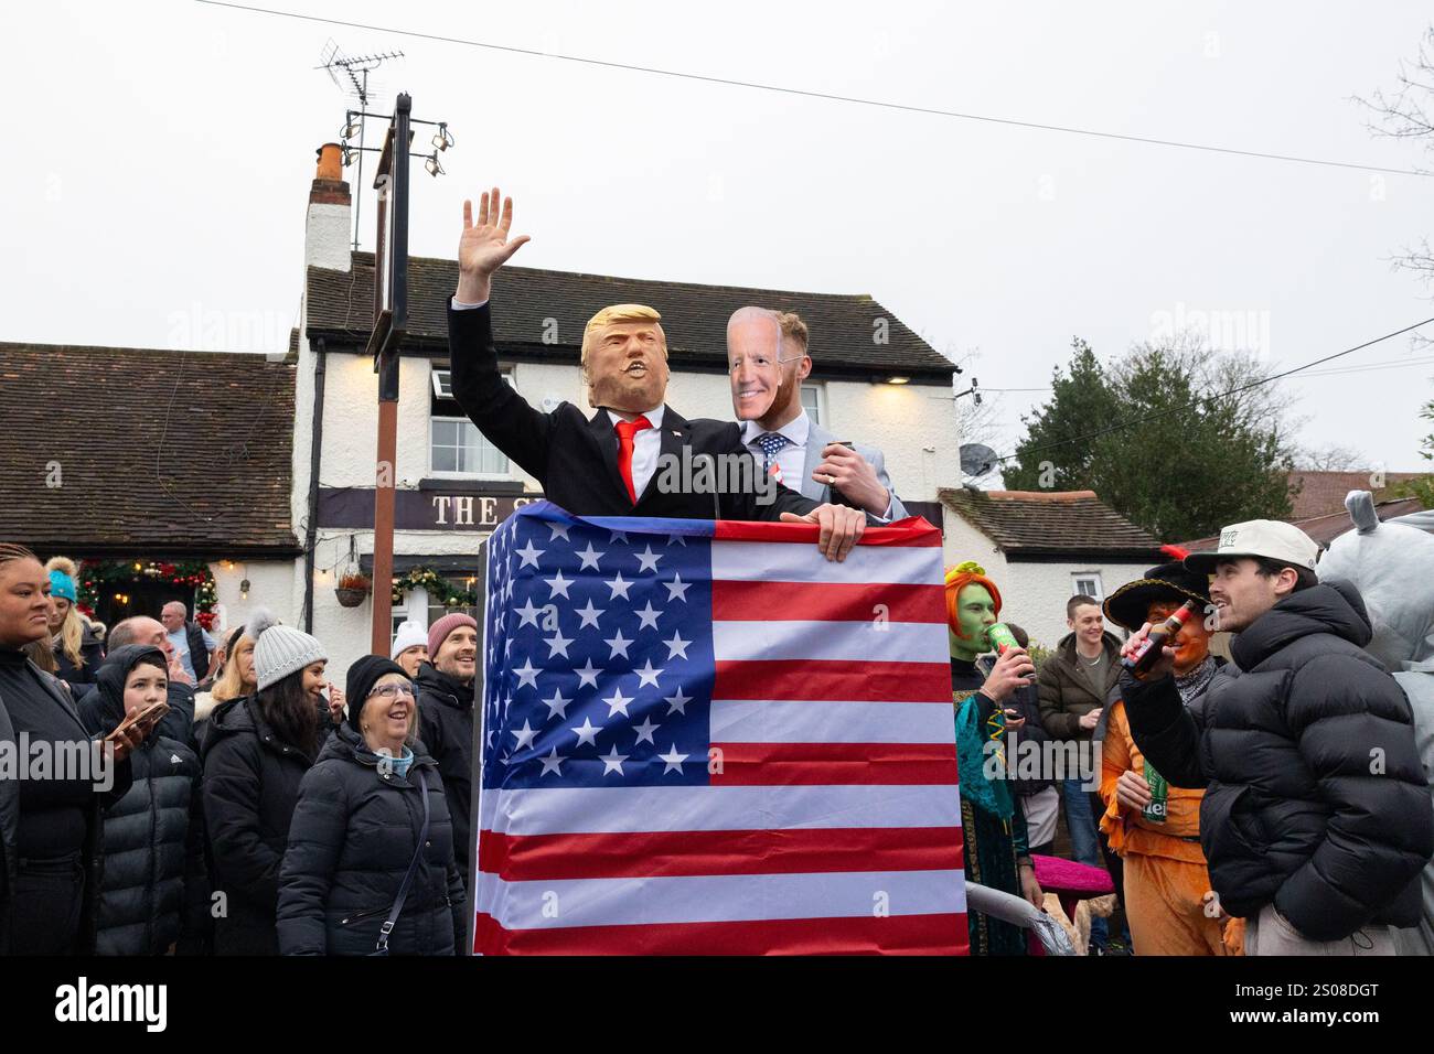
[[[298,552],[291,366],[0,343],[0,538],[42,556]]]

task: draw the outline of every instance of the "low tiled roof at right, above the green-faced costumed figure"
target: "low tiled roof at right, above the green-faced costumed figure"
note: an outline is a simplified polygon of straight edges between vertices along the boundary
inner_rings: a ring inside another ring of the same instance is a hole
[[[1159,539],[1094,490],[941,492],[941,500],[1008,555],[1159,559]]]

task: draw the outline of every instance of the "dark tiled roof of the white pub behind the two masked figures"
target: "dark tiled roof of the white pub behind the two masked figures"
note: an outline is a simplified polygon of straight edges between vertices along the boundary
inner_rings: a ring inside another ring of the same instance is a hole
[[[353,254],[354,270],[308,268],[308,336],[363,346],[373,318],[373,254]],[[409,336],[414,350],[447,347],[447,303],[457,264],[409,258]],[[532,267],[505,267],[493,277],[495,336],[506,354],[576,361],[582,328],[607,304],[650,304],[663,315],[677,369],[727,369],[727,318],[760,304],[796,311],[812,334],[812,376],[949,384],[955,369],[931,344],[868,295],[783,293],[648,278],[612,278]],[[882,321],[885,320],[885,321]],[[886,343],[876,343],[883,334]]]

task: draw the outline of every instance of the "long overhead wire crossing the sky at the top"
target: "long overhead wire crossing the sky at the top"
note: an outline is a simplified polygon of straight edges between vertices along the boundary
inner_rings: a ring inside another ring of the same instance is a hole
[[[317,14],[300,14],[297,11],[280,11],[271,7],[255,7],[250,4],[227,3],[227,0],[195,0],[211,7],[228,7],[251,14],[272,14],[282,19],[298,19],[301,22],[317,22],[326,26],[344,26],[347,29],[361,29],[373,33],[389,33],[391,36],[406,36],[419,40],[435,40],[445,44],[463,44],[466,47],[483,47],[490,52],[506,52],[508,54],[525,54],[536,59],[558,59],[561,62],[575,62],[584,66],[601,66],[604,69],[627,70],[630,73],[648,73],[660,77],[674,77],[678,80],[695,80],[707,85],[724,85],[727,87],[747,87],[754,92],[776,92],[793,95],[803,99],[823,99],[826,102],[845,102],[856,106],[873,106],[886,110],[901,110],[903,113],[925,113],[935,118],[951,118],[955,120],[977,120],[988,125],[1005,125],[1008,128],[1028,128],[1040,132],[1060,132],[1063,135],[1083,135],[1093,139],[1113,139],[1129,143],[1143,143],[1146,146],[1172,146],[1183,151],[1205,151],[1207,153],[1226,153],[1239,158],[1258,158],[1260,161],[1286,161],[1299,165],[1322,165],[1326,168],[1352,168],[1361,172],[1385,172],[1388,175],[1411,175],[1430,178],[1434,172],[1421,172],[1412,168],[1384,168],[1380,165],[1365,165],[1354,161],[1331,161],[1328,158],[1304,158],[1292,153],[1272,153],[1266,151],[1243,151],[1233,146],[1216,146],[1212,143],[1192,143],[1179,139],[1156,139],[1152,136],[1123,135],[1120,132],[1101,132],[1093,128],[1074,128],[1070,125],[1050,125],[1038,120],[1017,120],[1014,118],[995,118],[988,113],[964,113],[961,110],[946,110],[935,106],[915,106],[899,102],[885,102],[880,99],[862,99],[852,95],[837,95],[835,92],[816,92],[804,87],[786,87],[783,85],[764,85],[756,80],[739,80],[736,77],[716,77],[704,73],[684,73],[681,70],[661,69],[658,66],[638,66],[627,62],[611,62],[607,59],[588,59],[579,54],[558,54],[542,52],[535,47],[516,47],[512,44],[495,44],[486,40],[470,40],[466,37],[443,36],[440,33],[420,33],[417,30],[397,29],[394,26],[374,26],[363,22],[348,22],[344,19],[326,19]]]

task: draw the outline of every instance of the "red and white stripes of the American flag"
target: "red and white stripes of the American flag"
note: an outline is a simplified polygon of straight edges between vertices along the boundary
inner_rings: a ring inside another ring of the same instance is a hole
[[[964,954],[941,535],[716,525],[711,786],[482,793],[475,946]]]

